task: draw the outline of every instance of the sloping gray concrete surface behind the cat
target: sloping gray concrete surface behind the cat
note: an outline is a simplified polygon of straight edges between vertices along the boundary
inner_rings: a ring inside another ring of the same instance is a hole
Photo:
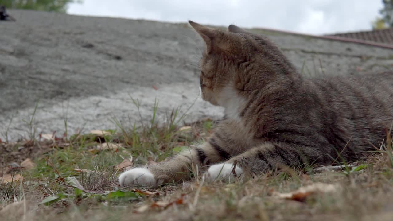
[[[0,22],[0,138],[27,136],[22,120],[39,105],[37,133],[114,129],[181,106],[186,122],[219,118],[222,109],[198,97],[203,42],[186,24],[9,10],[17,22]],[[186,21],[185,21],[186,22]],[[196,21],[198,22],[198,21]],[[229,24],[228,24],[229,25]],[[253,29],[277,43],[306,75],[354,74],[390,69],[393,50]],[[322,68],[321,68],[322,67]]]

